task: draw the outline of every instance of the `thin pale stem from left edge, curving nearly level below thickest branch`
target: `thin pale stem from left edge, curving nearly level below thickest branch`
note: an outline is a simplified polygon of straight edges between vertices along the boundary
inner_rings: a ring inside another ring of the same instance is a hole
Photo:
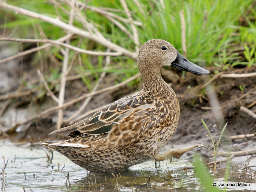
[[[69,49],[71,49],[73,51],[77,51],[79,53],[85,53],[85,54],[88,54],[88,55],[102,55],[102,56],[106,56],[106,55],[119,56],[119,55],[122,55],[121,52],[100,52],[100,51],[84,50],[84,49],[72,46],[70,44],[63,43],[63,42],[60,42],[58,40],[51,40],[51,39],[20,39],[20,38],[7,38],[7,37],[3,37],[3,38],[0,38],[0,41],[17,41],[17,42],[24,42],[24,43],[27,43],[27,42],[30,42],[30,43],[38,43],[38,42],[39,43],[51,43],[53,45],[63,46],[65,48],[69,48]],[[33,51],[33,52],[35,52],[35,51]]]

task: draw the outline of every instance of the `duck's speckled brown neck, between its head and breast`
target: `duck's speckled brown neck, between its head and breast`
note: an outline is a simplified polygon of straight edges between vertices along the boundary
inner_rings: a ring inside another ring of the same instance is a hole
[[[141,72],[141,78],[143,81],[143,91],[152,93],[166,92],[166,89],[170,89],[170,86],[163,80],[160,69],[148,68]]]

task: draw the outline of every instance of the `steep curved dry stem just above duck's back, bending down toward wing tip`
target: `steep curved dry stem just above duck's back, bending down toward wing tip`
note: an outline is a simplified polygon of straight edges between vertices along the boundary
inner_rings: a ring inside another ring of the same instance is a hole
[[[109,48],[107,49],[107,52],[108,51],[110,51]],[[106,70],[109,64],[110,64],[110,57],[107,56],[106,57],[106,64],[105,64],[105,67],[103,69]],[[97,89],[98,89],[100,83],[102,82],[102,80],[104,79],[105,75],[106,75],[106,72],[101,73],[101,75],[99,77],[99,80],[94,85],[91,93],[97,91]],[[86,108],[86,106],[88,105],[88,103],[90,102],[91,99],[92,99],[92,96],[87,97],[86,100],[84,101],[84,103],[80,106],[80,108],[72,116],[70,116],[67,120],[65,120],[64,122],[67,123],[67,122],[71,121],[72,119],[74,119],[75,117],[77,117]]]

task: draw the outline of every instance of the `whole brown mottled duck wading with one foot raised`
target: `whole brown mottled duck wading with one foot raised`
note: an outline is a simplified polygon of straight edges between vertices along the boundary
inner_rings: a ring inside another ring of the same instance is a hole
[[[178,98],[163,80],[160,68],[173,66],[195,75],[208,75],[209,71],[190,62],[172,44],[161,39],[145,42],[137,63],[143,82],[140,92],[114,101],[90,118],[50,133],[66,133],[70,139],[41,142],[41,145],[94,173],[122,172],[151,158],[156,161],[179,158],[197,147],[170,149],[159,154],[174,134],[180,117]]]

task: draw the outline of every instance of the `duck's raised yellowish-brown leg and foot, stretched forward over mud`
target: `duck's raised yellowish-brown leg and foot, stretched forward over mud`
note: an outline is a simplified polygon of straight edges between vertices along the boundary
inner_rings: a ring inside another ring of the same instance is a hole
[[[179,159],[185,152],[191,150],[191,149],[194,149],[198,147],[198,145],[193,145],[193,146],[190,146],[190,147],[185,147],[185,148],[180,148],[180,149],[170,149],[168,151],[166,151],[164,154],[160,155],[159,153],[153,155],[154,159],[156,161],[164,161],[168,158],[176,158],[176,159]]]

